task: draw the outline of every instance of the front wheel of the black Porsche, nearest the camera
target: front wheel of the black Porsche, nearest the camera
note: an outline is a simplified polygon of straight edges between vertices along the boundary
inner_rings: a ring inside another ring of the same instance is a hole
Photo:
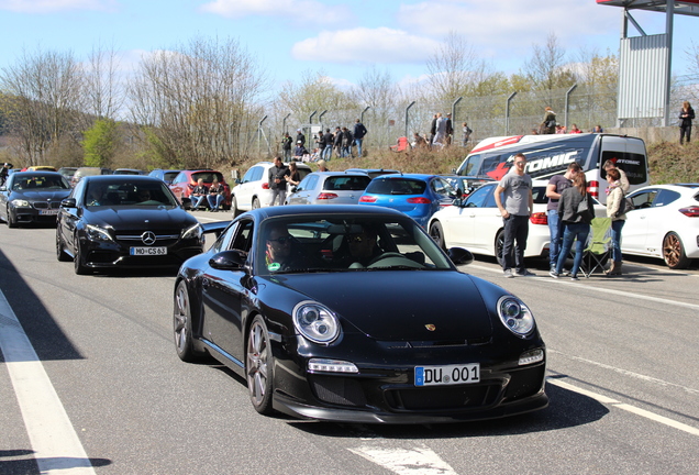
[[[245,374],[249,400],[255,410],[270,415],[274,380],[274,356],[269,347],[269,333],[260,316],[255,317],[247,332]]]

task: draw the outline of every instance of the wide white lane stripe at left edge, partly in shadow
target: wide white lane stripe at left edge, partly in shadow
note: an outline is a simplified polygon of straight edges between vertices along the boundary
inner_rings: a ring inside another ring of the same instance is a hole
[[[44,366],[1,290],[0,351],[41,473],[95,475]]]

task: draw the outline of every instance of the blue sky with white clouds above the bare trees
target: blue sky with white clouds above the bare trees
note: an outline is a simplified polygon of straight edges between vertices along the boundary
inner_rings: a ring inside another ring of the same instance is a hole
[[[646,33],[664,31],[665,14],[633,14]],[[195,36],[233,36],[276,86],[308,70],[356,84],[373,66],[410,81],[426,74],[425,60],[453,31],[510,74],[550,33],[570,54],[580,47],[615,53],[621,15],[595,0],[0,0],[0,68],[22,48],[71,51],[85,59],[102,43],[114,45],[127,70],[142,54]],[[685,51],[697,25],[699,18],[675,18],[678,75],[688,74]]]

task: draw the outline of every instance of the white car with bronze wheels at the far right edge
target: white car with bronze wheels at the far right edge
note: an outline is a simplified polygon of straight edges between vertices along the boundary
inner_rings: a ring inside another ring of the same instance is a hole
[[[699,184],[646,186],[629,198],[622,254],[659,257],[674,269],[699,258]]]

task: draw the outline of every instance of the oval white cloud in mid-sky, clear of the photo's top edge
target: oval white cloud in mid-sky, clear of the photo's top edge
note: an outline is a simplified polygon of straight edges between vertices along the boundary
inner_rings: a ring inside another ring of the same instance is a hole
[[[389,27],[321,32],[296,43],[295,59],[325,63],[423,63],[440,43]]]

